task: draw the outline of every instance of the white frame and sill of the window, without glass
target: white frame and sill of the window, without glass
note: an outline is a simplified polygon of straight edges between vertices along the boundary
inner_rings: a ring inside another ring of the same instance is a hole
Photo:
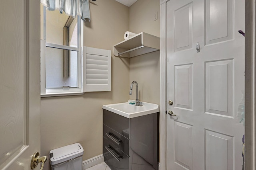
[[[66,15],[66,14],[62,14]],[[41,39],[41,97],[82,95],[82,64],[83,64],[83,24],[77,16],[78,47],[46,43],[46,7],[44,6],[44,39]],[[46,88],[46,47],[77,51],[77,87],[76,88]]]

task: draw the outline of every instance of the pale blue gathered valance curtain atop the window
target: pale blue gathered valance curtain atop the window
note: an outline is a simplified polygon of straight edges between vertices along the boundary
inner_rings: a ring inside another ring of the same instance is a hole
[[[90,21],[89,0],[41,0],[41,4],[50,11],[59,10],[68,16],[78,15],[83,21]]]

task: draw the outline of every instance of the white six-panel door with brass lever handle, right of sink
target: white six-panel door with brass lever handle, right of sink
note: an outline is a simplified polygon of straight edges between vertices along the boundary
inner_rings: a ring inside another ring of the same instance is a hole
[[[166,2],[167,170],[242,170],[244,8],[244,0]]]

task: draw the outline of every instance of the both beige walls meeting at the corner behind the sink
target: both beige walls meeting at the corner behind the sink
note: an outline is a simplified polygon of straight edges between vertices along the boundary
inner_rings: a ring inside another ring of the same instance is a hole
[[[158,12],[158,20],[153,21]],[[115,0],[90,1],[91,22],[84,23],[84,46],[110,49],[124,40],[125,31],[160,36],[159,0],[138,0],[130,8]],[[129,20],[130,18],[130,20]],[[130,83],[139,84],[139,99],[160,104],[160,52],[131,59],[114,57],[111,92],[41,98],[41,155],[72,143],[84,147],[83,160],[102,154],[102,105],[135,99]],[[45,170],[49,170],[49,162]]]

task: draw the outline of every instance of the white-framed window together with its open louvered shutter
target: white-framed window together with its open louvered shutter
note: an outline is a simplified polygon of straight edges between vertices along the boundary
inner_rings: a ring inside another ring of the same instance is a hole
[[[83,24],[41,5],[41,97],[111,91],[111,51],[83,47]]]

